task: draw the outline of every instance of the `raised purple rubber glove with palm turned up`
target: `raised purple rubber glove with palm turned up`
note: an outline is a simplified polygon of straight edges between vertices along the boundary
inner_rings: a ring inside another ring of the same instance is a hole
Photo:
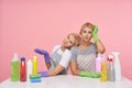
[[[40,50],[40,48],[35,48],[34,50],[34,52],[35,53],[38,53],[38,54],[41,54],[41,55],[44,55],[44,58],[45,58],[45,62],[46,63],[50,63],[51,61],[51,58],[50,58],[50,54],[46,52],[46,51],[44,51],[44,50]]]

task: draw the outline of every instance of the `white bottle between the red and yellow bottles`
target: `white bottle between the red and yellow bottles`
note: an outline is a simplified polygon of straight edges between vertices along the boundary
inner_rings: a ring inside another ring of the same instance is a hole
[[[30,75],[33,73],[33,64],[32,61],[29,59],[26,63],[26,79],[30,80]]]

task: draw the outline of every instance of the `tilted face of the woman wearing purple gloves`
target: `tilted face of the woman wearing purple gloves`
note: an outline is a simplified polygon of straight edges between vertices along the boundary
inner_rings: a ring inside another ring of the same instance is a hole
[[[75,37],[74,35],[69,34],[63,40],[63,46],[69,48],[75,45]]]

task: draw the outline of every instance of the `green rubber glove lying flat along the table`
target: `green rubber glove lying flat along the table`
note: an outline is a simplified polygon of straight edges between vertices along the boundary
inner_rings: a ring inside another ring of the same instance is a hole
[[[81,76],[81,77],[90,77],[90,78],[99,78],[99,77],[101,77],[100,73],[87,73],[87,72],[80,72],[79,76]]]

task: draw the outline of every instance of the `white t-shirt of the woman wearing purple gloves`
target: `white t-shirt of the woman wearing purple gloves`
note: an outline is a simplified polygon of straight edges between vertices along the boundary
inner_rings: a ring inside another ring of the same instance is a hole
[[[58,51],[57,51],[58,50]],[[57,54],[62,55],[62,59],[59,62],[59,65],[62,65],[63,67],[67,68],[70,62],[70,56],[72,56],[72,52],[69,50],[65,50],[64,52],[61,50],[61,45],[56,45],[53,48],[53,53],[57,51]],[[52,54],[53,54],[52,53]]]

